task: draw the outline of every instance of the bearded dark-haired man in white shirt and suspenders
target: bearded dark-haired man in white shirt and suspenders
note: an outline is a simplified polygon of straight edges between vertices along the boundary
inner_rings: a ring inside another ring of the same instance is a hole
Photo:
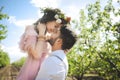
[[[66,26],[61,26],[48,42],[52,45],[52,53],[41,64],[36,80],[65,80],[68,72],[65,51],[75,44],[76,36]]]

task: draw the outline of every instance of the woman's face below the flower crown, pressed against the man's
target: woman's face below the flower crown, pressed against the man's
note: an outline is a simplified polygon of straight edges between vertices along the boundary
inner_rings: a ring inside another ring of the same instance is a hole
[[[57,29],[60,27],[60,24],[58,24],[56,21],[50,21],[47,22],[46,27],[48,33],[53,33],[57,31]]]

